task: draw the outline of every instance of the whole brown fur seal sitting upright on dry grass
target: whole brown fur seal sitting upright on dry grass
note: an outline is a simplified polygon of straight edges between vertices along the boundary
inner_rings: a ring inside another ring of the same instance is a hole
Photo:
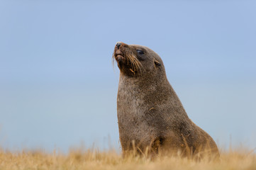
[[[124,154],[135,149],[138,153],[219,157],[211,136],[189,119],[157,53],[117,42],[114,60],[120,69],[117,115]]]

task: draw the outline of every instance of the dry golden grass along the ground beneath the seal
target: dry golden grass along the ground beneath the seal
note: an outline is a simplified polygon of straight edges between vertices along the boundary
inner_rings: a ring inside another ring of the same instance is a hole
[[[0,170],[9,169],[256,169],[254,150],[239,149],[221,152],[218,162],[159,156],[154,160],[145,157],[126,157],[114,151],[76,149],[68,154],[57,152],[4,152],[0,151]]]

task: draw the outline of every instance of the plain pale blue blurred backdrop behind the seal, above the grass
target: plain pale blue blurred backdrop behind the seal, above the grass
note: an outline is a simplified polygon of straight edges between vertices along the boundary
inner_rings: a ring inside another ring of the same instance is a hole
[[[255,1],[0,0],[0,146],[120,150],[117,41],[150,47],[219,147],[256,147]]]

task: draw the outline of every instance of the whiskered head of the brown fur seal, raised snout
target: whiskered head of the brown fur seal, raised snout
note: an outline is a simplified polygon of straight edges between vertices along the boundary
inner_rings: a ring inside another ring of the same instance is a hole
[[[157,53],[142,45],[127,45],[117,42],[113,60],[116,60],[121,74],[138,77],[149,72],[165,72],[164,64]]]

